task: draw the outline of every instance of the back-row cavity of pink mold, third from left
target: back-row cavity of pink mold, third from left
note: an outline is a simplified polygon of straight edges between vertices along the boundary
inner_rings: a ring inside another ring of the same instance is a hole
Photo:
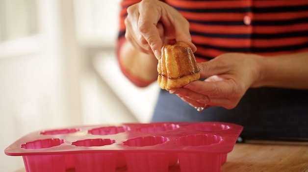
[[[140,127],[137,129],[137,131],[154,133],[154,132],[174,130],[179,127],[180,127],[179,124],[174,124],[174,123],[153,123],[151,125]]]

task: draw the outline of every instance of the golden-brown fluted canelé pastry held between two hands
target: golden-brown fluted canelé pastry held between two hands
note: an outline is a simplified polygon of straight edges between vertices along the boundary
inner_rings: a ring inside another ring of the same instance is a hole
[[[157,64],[157,82],[160,88],[171,90],[200,78],[192,49],[184,42],[164,45]]]

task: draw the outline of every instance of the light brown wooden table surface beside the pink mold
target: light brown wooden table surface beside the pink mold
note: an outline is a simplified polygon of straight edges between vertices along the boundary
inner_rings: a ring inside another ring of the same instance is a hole
[[[180,170],[176,167],[170,171]],[[235,144],[228,153],[227,162],[221,166],[221,172],[308,172],[308,142],[249,141]]]

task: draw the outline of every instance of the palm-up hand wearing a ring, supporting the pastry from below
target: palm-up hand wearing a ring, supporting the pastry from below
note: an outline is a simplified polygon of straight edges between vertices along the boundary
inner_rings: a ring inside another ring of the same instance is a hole
[[[234,108],[249,87],[259,78],[261,56],[226,53],[208,62],[199,63],[201,78],[183,88],[171,90],[194,107],[222,106]]]

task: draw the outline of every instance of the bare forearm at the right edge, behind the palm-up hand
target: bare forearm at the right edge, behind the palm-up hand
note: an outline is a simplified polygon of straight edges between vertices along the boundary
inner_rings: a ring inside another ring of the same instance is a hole
[[[251,87],[307,89],[308,52],[258,56],[258,77]]]

